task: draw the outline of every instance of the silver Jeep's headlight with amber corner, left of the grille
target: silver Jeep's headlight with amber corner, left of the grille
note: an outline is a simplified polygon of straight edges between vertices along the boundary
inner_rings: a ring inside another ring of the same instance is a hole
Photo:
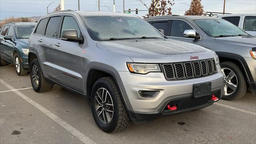
[[[127,66],[130,72],[137,73],[137,74],[147,74],[149,72],[161,72],[160,66],[158,64],[127,63]]]

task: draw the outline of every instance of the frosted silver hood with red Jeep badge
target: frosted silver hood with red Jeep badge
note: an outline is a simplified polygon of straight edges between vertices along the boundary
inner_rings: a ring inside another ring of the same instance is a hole
[[[201,46],[171,39],[113,40],[97,42],[98,48],[130,57],[134,62],[183,62],[213,58],[215,52]],[[210,54],[210,55],[209,55]]]

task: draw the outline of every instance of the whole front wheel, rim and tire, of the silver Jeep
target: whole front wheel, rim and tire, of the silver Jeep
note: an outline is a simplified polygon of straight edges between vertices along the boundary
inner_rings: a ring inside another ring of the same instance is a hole
[[[91,103],[94,121],[104,132],[122,131],[130,126],[130,118],[112,78],[96,80]]]

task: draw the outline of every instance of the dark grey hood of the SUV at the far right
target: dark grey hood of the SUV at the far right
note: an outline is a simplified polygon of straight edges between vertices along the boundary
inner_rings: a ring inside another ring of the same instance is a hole
[[[221,37],[215,38],[217,42],[224,42],[228,44],[237,44],[242,46],[255,47],[256,46],[256,37],[254,36],[230,36],[230,37]]]

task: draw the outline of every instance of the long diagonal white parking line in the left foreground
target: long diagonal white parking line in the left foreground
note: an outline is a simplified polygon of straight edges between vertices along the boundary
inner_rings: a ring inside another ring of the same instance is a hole
[[[4,80],[2,80],[0,78],[0,82],[2,84],[4,84],[4,86],[8,87],[10,90],[13,90],[13,92],[15,92],[16,94],[18,94],[21,98],[23,98],[24,100],[26,100],[27,102],[29,102],[30,104],[32,104],[33,106],[35,106],[36,108],[38,108],[38,110],[40,110],[41,112],[43,112],[44,114],[46,114],[48,117],[52,118],[52,120],[54,120],[55,122],[57,122],[58,124],[60,124],[63,128],[65,128],[66,130],[68,130],[70,133],[72,133],[74,136],[76,136],[77,138],[79,138],[82,142],[84,142],[85,144],[96,144],[94,141],[92,141],[90,138],[88,138],[87,136],[85,136],[84,134],[82,134],[81,132],[79,132],[78,130],[76,130],[75,128],[73,128],[72,126],[70,126],[70,124],[66,123],[64,120],[60,119],[58,116],[56,116],[55,114],[53,114],[52,112],[50,112],[49,110],[47,110],[46,108],[42,107],[40,104],[36,103],[34,100],[28,98],[27,96],[25,96],[24,94],[22,94],[20,91],[15,90],[10,84],[7,84]]]

